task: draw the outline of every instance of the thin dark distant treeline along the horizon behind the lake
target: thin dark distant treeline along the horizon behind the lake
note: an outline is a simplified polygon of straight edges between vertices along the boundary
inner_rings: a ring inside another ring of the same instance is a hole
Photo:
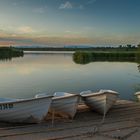
[[[140,48],[140,44],[137,46],[134,45],[119,45],[118,47],[89,47],[87,46],[84,48],[80,48],[80,46],[72,46],[72,47],[62,47],[62,48],[57,48],[57,47],[22,47],[19,48],[20,50],[23,51],[137,51]]]

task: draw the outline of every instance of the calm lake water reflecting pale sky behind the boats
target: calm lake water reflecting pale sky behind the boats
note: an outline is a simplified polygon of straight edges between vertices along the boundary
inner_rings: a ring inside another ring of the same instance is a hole
[[[92,62],[80,65],[72,54],[25,54],[0,61],[0,97],[28,98],[37,93],[112,89],[122,99],[134,99],[140,91],[138,64],[132,62]]]

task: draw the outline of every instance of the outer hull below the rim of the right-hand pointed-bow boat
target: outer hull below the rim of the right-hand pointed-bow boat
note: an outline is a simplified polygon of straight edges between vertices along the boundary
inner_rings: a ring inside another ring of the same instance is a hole
[[[104,93],[99,95],[90,95],[83,97],[84,102],[100,114],[106,114],[112,105],[118,99],[118,94]]]

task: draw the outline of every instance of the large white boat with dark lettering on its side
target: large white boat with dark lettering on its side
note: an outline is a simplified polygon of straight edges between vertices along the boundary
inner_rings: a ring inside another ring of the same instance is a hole
[[[52,96],[31,99],[0,98],[0,121],[38,123],[46,116]]]

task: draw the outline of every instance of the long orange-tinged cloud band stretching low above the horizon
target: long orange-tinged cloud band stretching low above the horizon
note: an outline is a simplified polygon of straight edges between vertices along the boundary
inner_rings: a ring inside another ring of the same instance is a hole
[[[11,37],[0,37],[0,46],[2,45],[48,45],[48,46],[64,46],[64,45],[74,45],[74,44],[135,44],[139,41],[139,36],[116,36],[107,35],[106,37],[81,37],[80,35],[73,34],[71,31],[67,31],[68,34],[63,37],[31,37],[29,36],[17,36]],[[70,33],[70,34],[69,34]],[[72,33],[72,34],[71,34]]]

